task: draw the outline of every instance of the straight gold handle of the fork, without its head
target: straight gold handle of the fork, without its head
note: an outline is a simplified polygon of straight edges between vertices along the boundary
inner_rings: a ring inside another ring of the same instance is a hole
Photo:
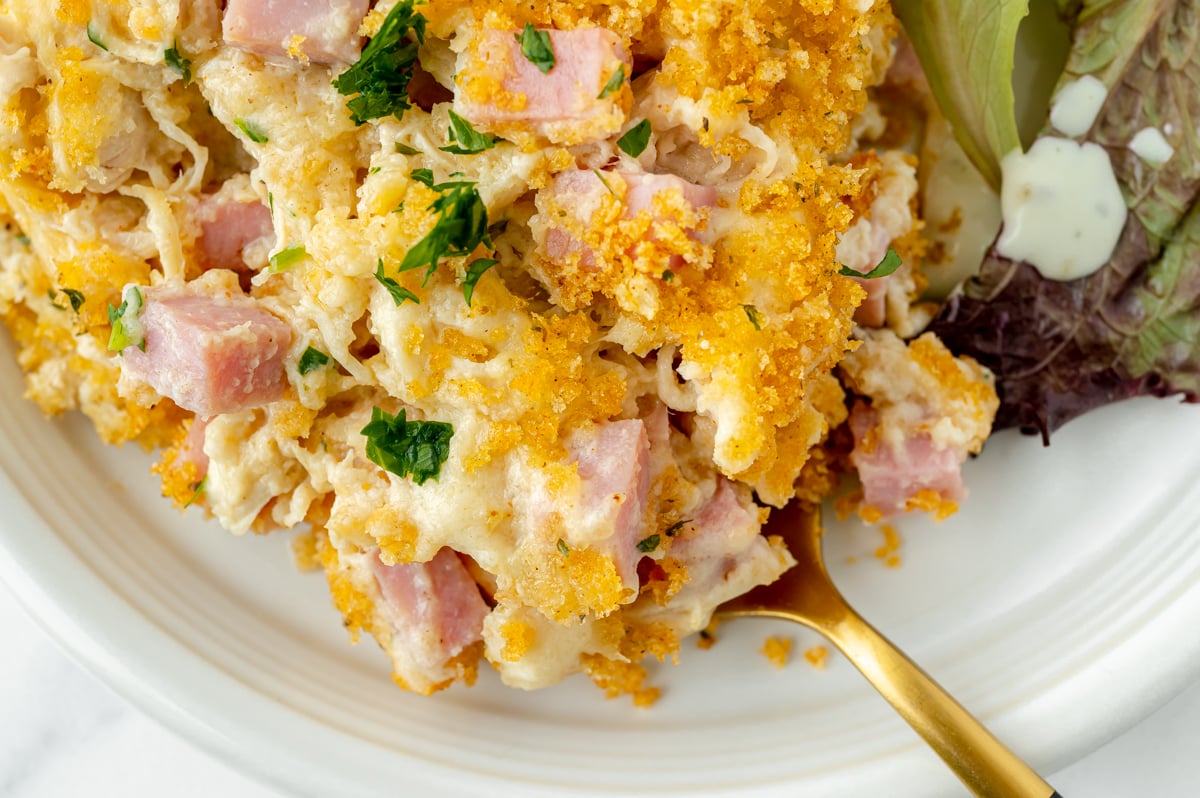
[[[852,608],[846,607],[846,614],[822,631],[972,793],[986,798],[1061,798]]]

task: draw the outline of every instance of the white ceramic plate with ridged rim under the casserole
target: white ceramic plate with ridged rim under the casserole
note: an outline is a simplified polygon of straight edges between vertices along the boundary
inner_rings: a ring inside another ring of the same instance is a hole
[[[845,661],[773,670],[768,634],[685,642],[650,710],[582,678],[523,694],[482,674],[433,698],[347,644],[283,535],[235,539],[157,496],[149,456],[20,398],[0,347],[0,577],[74,654],[200,745],[311,796],[959,794]],[[1200,666],[1200,408],[1139,401],[1049,450],[1002,434],[967,464],[964,512],[828,536],[836,581],[1034,766],[1067,764],[1150,714]],[[856,557],[851,564],[848,558]]]

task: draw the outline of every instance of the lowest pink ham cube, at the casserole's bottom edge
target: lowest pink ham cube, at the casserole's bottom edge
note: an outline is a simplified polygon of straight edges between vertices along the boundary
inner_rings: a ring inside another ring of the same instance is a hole
[[[425,691],[450,678],[446,662],[482,640],[487,605],[458,556],[442,548],[427,563],[371,560],[388,619],[397,676]]]

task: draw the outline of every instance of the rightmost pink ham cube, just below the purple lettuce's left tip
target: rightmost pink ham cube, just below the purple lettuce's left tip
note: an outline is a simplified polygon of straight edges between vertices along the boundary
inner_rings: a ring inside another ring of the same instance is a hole
[[[858,469],[863,499],[884,516],[906,510],[908,499],[931,490],[942,499],[959,502],[966,494],[962,462],[966,455],[952,448],[938,449],[924,433],[888,445],[875,430],[878,415],[865,402],[856,402],[850,413],[854,449],[850,461]]]

